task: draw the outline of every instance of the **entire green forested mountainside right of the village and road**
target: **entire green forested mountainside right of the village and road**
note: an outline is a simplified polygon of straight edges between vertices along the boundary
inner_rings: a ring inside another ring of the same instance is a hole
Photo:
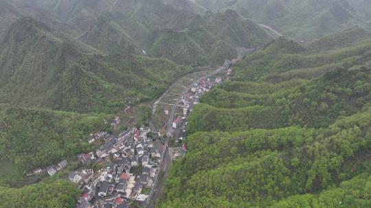
[[[368,207],[370,47],[278,38],[247,55],[188,117],[157,207]]]

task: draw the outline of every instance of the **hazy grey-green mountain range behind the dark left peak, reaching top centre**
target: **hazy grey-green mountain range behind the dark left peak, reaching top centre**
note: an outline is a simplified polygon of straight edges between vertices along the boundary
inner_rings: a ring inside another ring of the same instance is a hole
[[[31,14],[56,31],[69,31],[69,38],[102,53],[138,54],[144,50],[146,55],[192,66],[223,64],[234,58],[236,47],[254,48],[271,40],[258,24],[236,12],[205,14],[191,2],[12,0],[9,5],[21,8],[21,15]],[[225,53],[222,47],[227,48]]]

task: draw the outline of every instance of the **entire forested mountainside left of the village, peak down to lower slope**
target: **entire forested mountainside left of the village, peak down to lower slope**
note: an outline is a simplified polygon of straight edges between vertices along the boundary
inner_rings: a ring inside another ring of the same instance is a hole
[[[90,133],[112,114],[152,101],[190,73],[166,59],[102,55],[25,17],[0,42],[1,185],[25,172],[91,151]]]

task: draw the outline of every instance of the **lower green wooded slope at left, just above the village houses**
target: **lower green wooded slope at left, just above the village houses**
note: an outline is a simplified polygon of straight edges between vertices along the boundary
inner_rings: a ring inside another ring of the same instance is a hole
[[[96,146],[88,144],[89,133],[109,127],[104,125],[104,120],[109,119],[104,115],[43,109],[10,108],[2,119],[5,127],[0,131],[1,161],[10,161],[23,174],[69,155],[92,151]]]

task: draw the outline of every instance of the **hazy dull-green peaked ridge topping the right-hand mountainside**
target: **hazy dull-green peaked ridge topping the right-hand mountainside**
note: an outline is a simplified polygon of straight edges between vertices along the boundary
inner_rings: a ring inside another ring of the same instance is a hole
[[[336,68],[369,66],[370,47],[370,40],[365,40],[355,46],[315,53],[308,47],[280,38],[236,64],[232,79],[269,82],[311,79]]]

